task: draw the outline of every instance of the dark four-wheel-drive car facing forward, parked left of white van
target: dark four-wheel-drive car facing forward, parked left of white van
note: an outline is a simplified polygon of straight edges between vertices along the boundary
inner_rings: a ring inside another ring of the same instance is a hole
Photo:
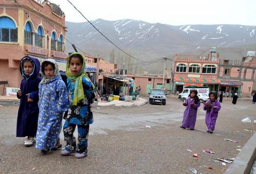
[[[148,93],[150,95],[150,98],[148,99],[148,102],[150,104],[152,103],[160,103],[165,105],[166,104],[166,93],[164,92],[164,89],[151,89],[151,93]]]

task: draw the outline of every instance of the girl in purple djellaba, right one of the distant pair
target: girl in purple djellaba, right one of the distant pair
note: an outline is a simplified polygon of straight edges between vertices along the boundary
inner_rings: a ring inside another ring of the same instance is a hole
[[[218,93],[216,91],[209,93],[209,99],[204,103],[203,108],[206,111],[205,123],[208,128],[206,132],[212,134],[215,129],[218,113],[221,109],[221,103],[218,100]]]

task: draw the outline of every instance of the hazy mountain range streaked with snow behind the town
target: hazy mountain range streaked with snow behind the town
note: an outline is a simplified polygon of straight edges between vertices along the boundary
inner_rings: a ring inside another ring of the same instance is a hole
[[[247,51],[256,50],[256,26],[172,26],[132,19],[96,19],[91,23],[118,47],[144,61],[163,55],[173,58],[175,54],[208,54],[210,47],[217,47],[222,59],[242,59]],[[87,54],[108,59],[113,49],[115,54],[120,52],[88,22],[66,21],[66,26],[67,39]],[[67,43],[66,50],[73,48]]]

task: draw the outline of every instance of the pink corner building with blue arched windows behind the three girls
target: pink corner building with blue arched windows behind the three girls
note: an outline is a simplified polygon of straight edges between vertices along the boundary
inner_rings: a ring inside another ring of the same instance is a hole
[[[65,29],[65,14],[49,1],[0,0],[0,81],[19,88],[19,61],[26,55],[65,61]]]

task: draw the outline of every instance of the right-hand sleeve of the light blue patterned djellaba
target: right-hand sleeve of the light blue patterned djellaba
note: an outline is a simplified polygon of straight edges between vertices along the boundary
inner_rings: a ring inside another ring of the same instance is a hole
[[[58,101],[57,101],[57,111],[63,113],[69,108],[69,95],[66,88],[66,84],[61,80],[56,84]]]

